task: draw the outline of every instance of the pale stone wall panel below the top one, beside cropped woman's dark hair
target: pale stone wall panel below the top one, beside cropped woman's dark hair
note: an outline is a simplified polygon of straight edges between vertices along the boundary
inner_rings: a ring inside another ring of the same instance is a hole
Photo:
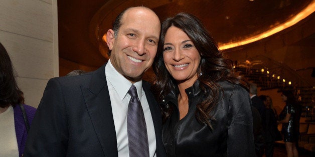
[[[20,77],[53,77],[53,43],[0,30],[0,41],[10,54]]]

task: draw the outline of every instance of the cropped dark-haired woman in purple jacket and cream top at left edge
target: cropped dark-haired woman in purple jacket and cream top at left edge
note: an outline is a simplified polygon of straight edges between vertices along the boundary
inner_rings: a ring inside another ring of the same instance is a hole
[[[27,138],[27,125],[19,104],[24,103],[23,92],[15,80],[9,54],[0,43],[0,156],[22,156]],[[36,108],[23,104],[32,122]]]

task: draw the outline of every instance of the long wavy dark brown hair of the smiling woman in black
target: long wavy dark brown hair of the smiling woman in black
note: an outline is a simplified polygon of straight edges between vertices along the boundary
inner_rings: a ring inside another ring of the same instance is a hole
[[[182,29],[200,53],[198,79],[205,99],[197,104],[196,118],[199,122],[212,128],[210,122],[212,117],[209,113],[219,101],[221,88],[218,81],[227,80],[233,84],[240,84],[247,90],[249,85],[240,76],[234,75],[232,60],[224,58],[222,52],[218,49],[217,43],[201,21],[193,14],[181,12],[174,17],[167,18],[162,24],[159,46],[152,65],[156,75],[152,84],[152,91],[157,101],[161,102],[170,91],[177,88],[177,83],[168,72],[163,60],[165,35],[171,26]],[[173,108],[168,104],[165,106],[159,104],[165,121],[173,112]]]

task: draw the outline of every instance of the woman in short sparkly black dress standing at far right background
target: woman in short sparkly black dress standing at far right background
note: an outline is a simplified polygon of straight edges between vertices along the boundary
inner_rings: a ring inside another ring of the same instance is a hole
[[[282,123],[282,134],[285,142],[287,156],[298,156],[296,144],[299,135],[299,118],[301,108],[295,101],[295,96],[291,91],[285,90],[281,94],[285,106],[279,114],[279,122]]]

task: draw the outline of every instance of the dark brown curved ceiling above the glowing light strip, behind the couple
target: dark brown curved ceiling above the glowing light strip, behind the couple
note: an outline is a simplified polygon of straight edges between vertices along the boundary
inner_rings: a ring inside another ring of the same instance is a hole
[[[219,45],[226,45],[277,28],[311,3],[314,0],[58,0],[59,57],[101,66],[107,60],[100,53],[107,51],[101,36],[129,6],[150,7],[161,20],[182,11],[193,13]]]

